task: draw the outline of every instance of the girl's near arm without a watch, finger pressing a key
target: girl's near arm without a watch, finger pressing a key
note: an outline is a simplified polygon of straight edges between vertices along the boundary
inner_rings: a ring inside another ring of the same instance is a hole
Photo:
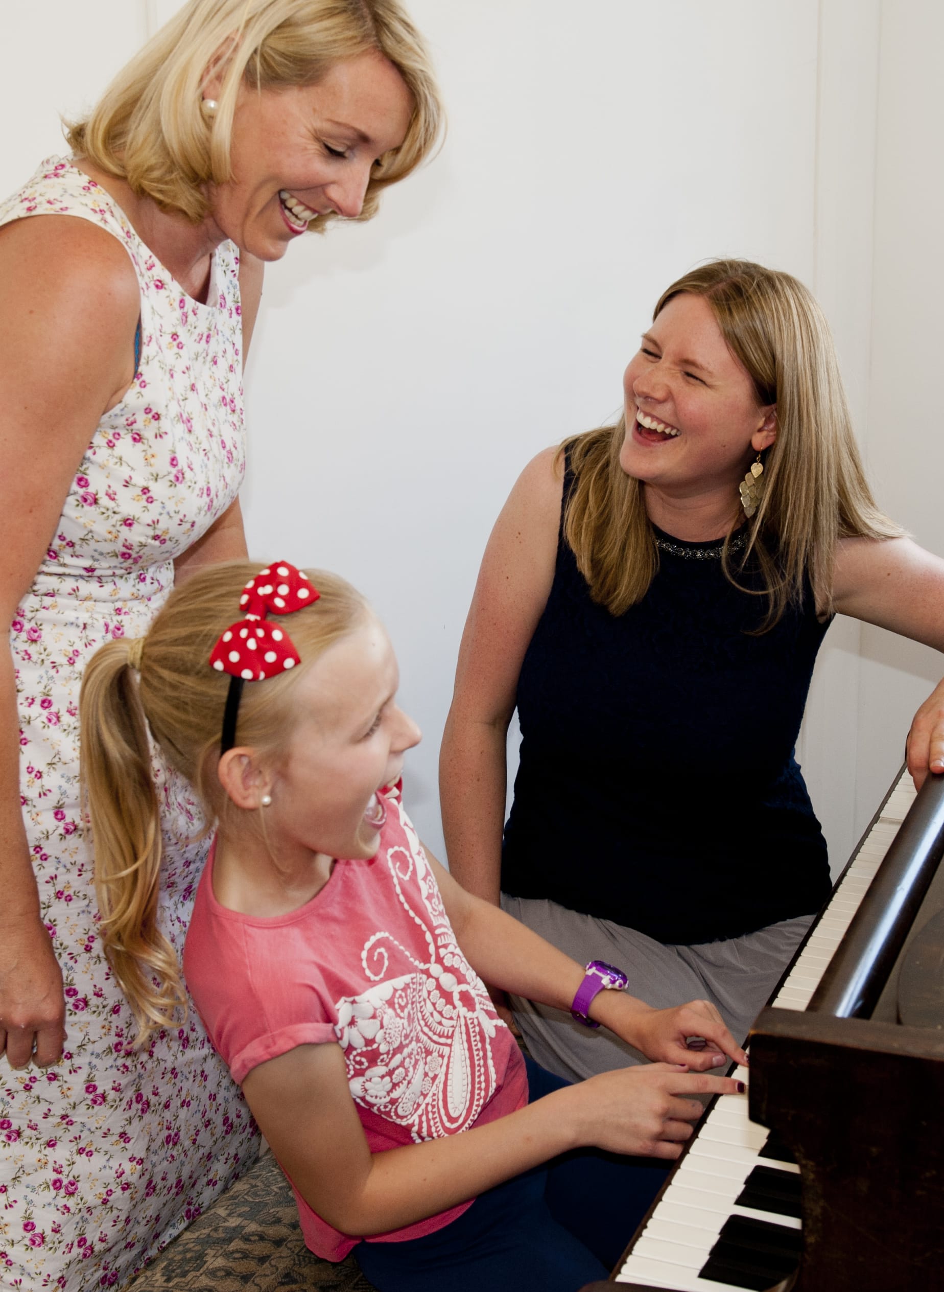
[[[338,1045],[300,1045],[243,1083],[252,1114],[309,1207],[344,1234],[386,1234],[469,1202],[568,1149],[673,1159],[730,1078],[666,1065],[622,1068],[462,1134],[371,1154]]]

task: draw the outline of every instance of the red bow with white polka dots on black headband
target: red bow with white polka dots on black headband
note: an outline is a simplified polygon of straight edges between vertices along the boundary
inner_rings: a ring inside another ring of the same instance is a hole
[[[221,755],[236,743],[236,714],[243,682],[261,682],[276,677],[301,663],[292,638],[284,628],[270,624],[267,615],[291,615],[318,601],[320,593],[296,566],[278,561],[260,570],[247,583],[239,605],[244,618],[221,634],[209,663],[230,674],[230,693],[223,713]]]

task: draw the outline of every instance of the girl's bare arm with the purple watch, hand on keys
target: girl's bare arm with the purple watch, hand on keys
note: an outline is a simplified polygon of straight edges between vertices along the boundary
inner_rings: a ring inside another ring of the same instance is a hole
[[[462,953],[479,977],[517,996],[568,1010],[584,981],[584,965],[519,920],[466,893],[429,850],[426,857]],[[651,1059],[700,1071],[727,1063],[724,1056],[746,1063],[746,1054],[706,1000],[653,1009],[626,991],[600,991],[590,1005],[590,1018]],[[690,1050],[688,1036],[703,1036],[708,1044]]]

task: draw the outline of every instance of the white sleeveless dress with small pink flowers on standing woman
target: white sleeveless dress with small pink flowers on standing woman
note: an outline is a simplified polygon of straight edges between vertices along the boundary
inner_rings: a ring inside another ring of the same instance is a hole
[[[10,630],[23,817],[68,1039],[49,1071],[14,1072],[0,1057],[0,1284],[79,1292],[125,1283],[258,1151],[241,1094],[192,1009],[143,1054],[130,1049],[132,1016],[97,933],[79,808],[85,662],[111,637],[146,632],[173,587],[173,558],[241,483],[241,322],[232,243],[217,249],[201,305],[70,162],[44,162],[0,204],[0,225],[40,214],[79,216],[114,234],[141,286],[134,381],[92,438]],[[191,841],[201,818],[186,783],[160,767],[158,778],[160,922],[180,952],[208,842]]]

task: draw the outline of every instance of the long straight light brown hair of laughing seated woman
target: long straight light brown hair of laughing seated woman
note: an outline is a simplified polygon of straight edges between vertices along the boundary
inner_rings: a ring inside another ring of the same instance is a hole
[[[682,293],[708,302],[758,404],[776,404],[777,438],[764,452],[762,501],[737,558],[728,534],[724,574],[741,587],[745,563],[759,567],[763,629],[788,605],[802,603],[808,585],[825,616],[838,539],[904,534],[878,509],[865,479],[825,315],[795,278],[741,260],[712,261],[679,278],[659,298],[653,319]],[[564,536],[593,599],[613,615],[642,601],[659,568],[643,484],[620,466],[625,432],[624,415],[615,426],[576,435],[560,448],[575,473]],[[737,512],[732,532],[743,521]]]

